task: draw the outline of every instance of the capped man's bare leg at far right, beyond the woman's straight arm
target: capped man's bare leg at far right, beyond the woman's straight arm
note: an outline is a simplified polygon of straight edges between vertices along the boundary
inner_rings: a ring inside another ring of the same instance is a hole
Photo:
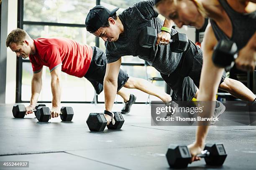
[[[243,101],[253,101],[256,97],[242,82],[231,78],[225,78],[219,88]]]

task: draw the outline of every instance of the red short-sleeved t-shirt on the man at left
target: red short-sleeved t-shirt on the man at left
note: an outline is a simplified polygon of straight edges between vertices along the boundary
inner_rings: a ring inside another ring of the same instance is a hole
[[[34,40],[36,54],[29,55],[33,72],[39,72],[43,65],[50,72],[61,66],[61,70],[69,75],[83,77],[90,67],[92,47],[82,45],[63,37],[37,38]]]

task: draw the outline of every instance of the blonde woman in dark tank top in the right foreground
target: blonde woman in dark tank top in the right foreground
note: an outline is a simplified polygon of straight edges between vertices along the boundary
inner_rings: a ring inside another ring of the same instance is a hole
[[[255,69],[256,0],[155,0],[155,4],[156,10],[167,19],[173,20],[179,28],[190,25],[199,29],[204,25],[205,18],[210,18],[211,22],[205,30],[202,42],[203,65],[197,100],[215,100],[224,71],[212,62],[213,47],[218,40],[229,39],[236,42],[239,50],[236,66],[239,69]],[[250,100],[255,101],[253,93],[248,98]],[[213,109],[214,105],[210,107],[211,113]],[[201,153],[204,147],[208,128],[209,126],[197,128],[196,141],[189,145],[191,161],[200,160],[195,155]]]

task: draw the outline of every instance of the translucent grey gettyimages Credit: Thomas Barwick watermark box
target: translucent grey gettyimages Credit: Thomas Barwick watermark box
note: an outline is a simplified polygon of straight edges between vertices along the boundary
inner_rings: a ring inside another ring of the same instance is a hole
[[[151,125],[256,125],[250,102],[172,101],[152,102]]]

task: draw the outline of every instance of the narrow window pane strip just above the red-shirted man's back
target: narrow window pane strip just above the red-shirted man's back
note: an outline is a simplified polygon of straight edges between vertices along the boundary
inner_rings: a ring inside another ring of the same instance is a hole
[[[28,32],[31,38],[39,37],[66,37],[82,44],[95,46],[95,36],[79,27],[59,27],[48,25],[23,25],[23,29]]]

